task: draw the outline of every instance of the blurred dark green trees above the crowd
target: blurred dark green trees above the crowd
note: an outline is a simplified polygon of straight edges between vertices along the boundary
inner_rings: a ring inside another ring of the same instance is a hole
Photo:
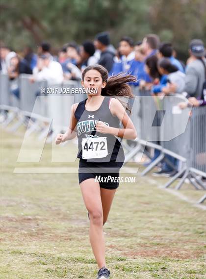
[[[16,51],[43,40],[80,44],[104,30],[115,46],[122,36],[139,41],[153,32],[182,55],[191,39],[205,40],[204,0],[0,0],[0,10],[0,40]]]

